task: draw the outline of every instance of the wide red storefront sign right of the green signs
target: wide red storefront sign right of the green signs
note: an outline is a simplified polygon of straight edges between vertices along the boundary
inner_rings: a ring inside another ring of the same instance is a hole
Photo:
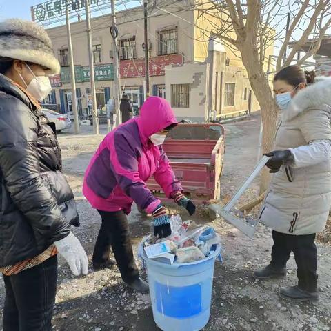
[[[150,76],[164,76],[164,67],[170,64],[182,65],[183,55],[172,54],[152,57],[149,63]],[[120,61],[119,74],[121,78],[145,77],[145,59]]]

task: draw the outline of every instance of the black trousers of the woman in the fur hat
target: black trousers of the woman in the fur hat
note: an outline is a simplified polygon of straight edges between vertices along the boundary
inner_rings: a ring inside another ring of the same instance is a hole
[[[6,289],[3,331],[51,331],[57,294],[57,256],[3,279]]]

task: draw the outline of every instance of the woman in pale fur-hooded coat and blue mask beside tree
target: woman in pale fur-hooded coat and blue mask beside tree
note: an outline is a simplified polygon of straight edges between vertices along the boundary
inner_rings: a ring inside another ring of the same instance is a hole
[[[293,252],[299,282],[279,292],[293,301],[319,300],[314,239],[323,231],[331,205],[331,79],[313,79],[312,72],[305,77],[299,66],[274,77],[281,123],[275,150],[267,154],[274,177],[259,215],[272,228],[274,245],[270,265],[253,274],[256,279],[285,277]]]

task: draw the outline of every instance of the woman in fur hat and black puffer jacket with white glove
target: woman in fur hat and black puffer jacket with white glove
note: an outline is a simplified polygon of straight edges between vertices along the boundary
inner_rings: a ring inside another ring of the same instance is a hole
[[[61,150],[41,113],[59,62],[36,23],[0,22],[0,272],[6,299],[3,331],[50,331],[57,292],[57,253],[76,275],[88,258],[70,231],[79,225],[63,176]]]

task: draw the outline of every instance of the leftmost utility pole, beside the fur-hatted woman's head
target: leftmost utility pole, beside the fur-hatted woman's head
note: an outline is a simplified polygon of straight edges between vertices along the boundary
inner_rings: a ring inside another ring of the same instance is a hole
[[[70,59],[71,102],[72,102],[72,112],[74,113],[74,133],[79,134],[76,78],[74,77],[74,54],[72,52],[72,40],[71,40],[71,30],[70,30],[70,21],[69,21],[68,1],[66,1],[66,23],[67,23],[68,50],[69,50],[69,59]]]

